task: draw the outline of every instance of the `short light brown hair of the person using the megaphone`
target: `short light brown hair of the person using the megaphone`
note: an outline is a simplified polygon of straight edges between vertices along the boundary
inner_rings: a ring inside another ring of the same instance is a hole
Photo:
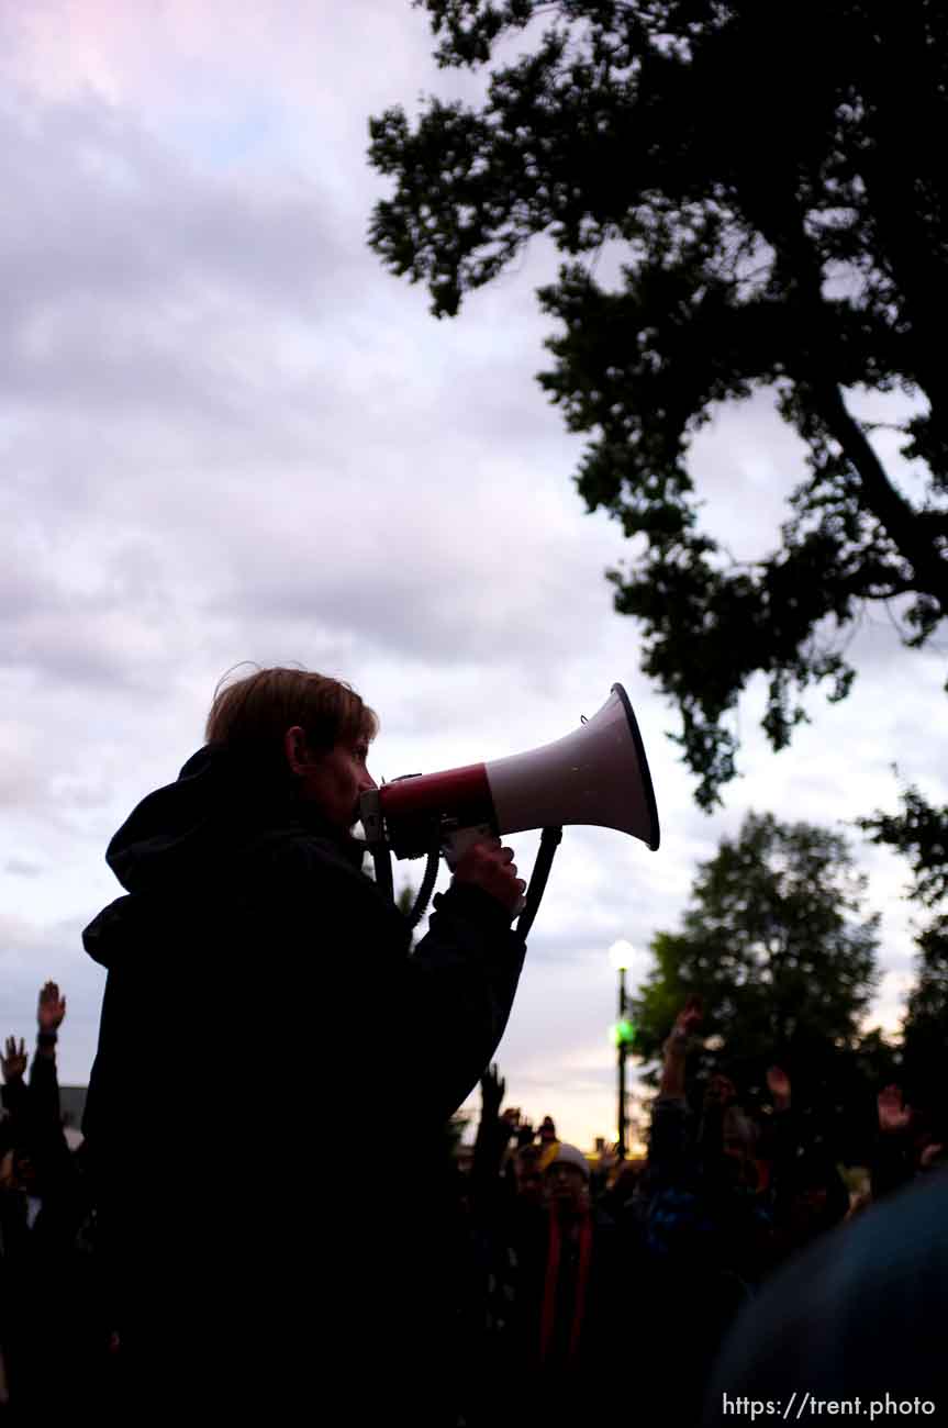
[[[236,665],[240,668],[240,665]],[[340,741],[374,738],[378,715],[343,680],[313,670],[260,670],[214,691],[204,738],[208,744],[278,753],[294,724],[306,731],[313,750],[328,751]]]

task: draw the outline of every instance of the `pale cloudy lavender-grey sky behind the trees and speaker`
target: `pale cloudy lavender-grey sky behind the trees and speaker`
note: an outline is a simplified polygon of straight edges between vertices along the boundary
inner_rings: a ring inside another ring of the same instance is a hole
[[[588,1145],[615,1131],[608,945],[630,938],[642,975],[695,863],[750,808],[839,824],[895,804],[894,761],[947,798],[945,647],[904,654],[885,611],[867,615],[854,694],[815,695],[780,757],[754,687],[744,777],[724,811],[695,808],[677,715],[611,610],[618,527],[584,514],[583,438],[534,380],[555,253],[535,243],[437,323],[365,244],[390,191],[368,116],[483,91],[431,47],[407,0],[0,10],[0,1034],[30,1035],[56,978],[61,1078],[86,1081],[104,974],[80,932],[120,891],[106,844],[200,745],[237,661],[350,680],[381,713],[377,778],[535,747],[621,681],[662,845],[567,830],[498,1055],[508,1101]],[[762,554],[802,474],[770,397],[720,413],[691,464],[712,533]],[[530,864],[535,837],[514,841]],[[904,870],[857,847],[894,1027]],[[383,1097],[387,1074],[381,1047]]]

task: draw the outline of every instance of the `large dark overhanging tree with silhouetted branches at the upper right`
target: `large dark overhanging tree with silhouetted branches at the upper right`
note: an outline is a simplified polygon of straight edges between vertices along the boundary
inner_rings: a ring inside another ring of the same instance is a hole
[[[414,0],[441,67],[488,64],[543,16],[533,51],[491,71],[478,111],[430,99],[370,121],[394,178],[371,217],[383,263],[424,281],[437,317],[495,278],[531,236],[570,260],[538,291],[561,324],[540,384],[591,434],[577,484],[632,541],[615,608],[677,704],[710,808],[735,774],[735,707],[768,685],[774,748],[802,691],[847,695],[844,637],[897,601],[904,644],[948,611],[948,7],[801,0]],[[583,257],[621,244],[617,290]],[[700,528],[685,468],[718,403],[767,388],[807,443],[764,558]],[[855,390],[904,393],[908,494]]]

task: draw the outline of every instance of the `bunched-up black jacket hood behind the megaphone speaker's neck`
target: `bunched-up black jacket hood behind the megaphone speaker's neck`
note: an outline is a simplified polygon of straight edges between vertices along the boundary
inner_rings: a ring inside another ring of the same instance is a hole
[[[86,951],[111,964],[111,948],[163,935],[168,902],[234,874],[263,834],[310,834],[360,868],[363,845],[294,797],[286,768],[220,744],[200,748],[173,784],[156,788],[116,833],[106,861],[131,897],[104,908],[83,932]]]

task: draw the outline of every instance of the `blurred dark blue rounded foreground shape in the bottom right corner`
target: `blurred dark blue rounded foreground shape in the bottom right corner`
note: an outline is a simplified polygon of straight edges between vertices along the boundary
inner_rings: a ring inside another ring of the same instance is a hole
[[[941,1170],[827,1235],[767,1285],[725,1345],[705,1428],[750,1418],[748,1402],[764,1405],[758,1422],[945,1422],[947,1325]]]

